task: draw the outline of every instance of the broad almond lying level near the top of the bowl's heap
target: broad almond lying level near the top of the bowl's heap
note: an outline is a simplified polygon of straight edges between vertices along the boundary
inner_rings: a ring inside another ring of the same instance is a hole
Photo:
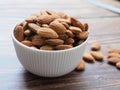
[[[49,24],[53,20],[55,20],[55,17],[53,15],[41,15],[37,19],[37,21],[41,24]]]

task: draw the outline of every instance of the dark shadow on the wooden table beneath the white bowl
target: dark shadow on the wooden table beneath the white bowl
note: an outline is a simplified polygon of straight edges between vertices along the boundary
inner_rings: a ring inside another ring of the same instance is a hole
[[[71,73],[57,77],[57,78],[45,78],[36,76],[28,71],[24,71],[23,78],[24,78],[24,84],[27,89],[31,88],[40,88],[40,89],[48,89],[48,88],[59,88],[64,87],[65,84],[70,84],[75,81],[76,77],[80,77],[82,72],[76,72],[75,70]]]

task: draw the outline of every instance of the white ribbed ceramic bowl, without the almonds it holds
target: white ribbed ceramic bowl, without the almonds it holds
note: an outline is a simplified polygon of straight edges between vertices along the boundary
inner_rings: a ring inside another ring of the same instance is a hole
[[[87,40],[79,46],[66,50],[48,51],[33,49],[12,39],[17,57],[29,72],[43,77],[58,77],[73,71],[80,62]]]

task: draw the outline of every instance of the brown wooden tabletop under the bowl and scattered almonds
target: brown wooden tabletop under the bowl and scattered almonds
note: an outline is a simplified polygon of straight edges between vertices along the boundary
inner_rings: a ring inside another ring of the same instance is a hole
[[[117,7],[119,5],[117,2]],[[98,41],[102,45],[104,61],[86,63],[85,71],[74,70],[59,78],[42,78],[27,72],[16,57],[11,32],[15,24],[29,14],[47,9],[64,11],[83,23],[88,22],[90,39],[86,52],[89,52],[92,43]],[[0,90],[120,90],[120,70],[106,61],[107,52],[112,48],[120,48],[120,14],[83,0],[0,2]]]

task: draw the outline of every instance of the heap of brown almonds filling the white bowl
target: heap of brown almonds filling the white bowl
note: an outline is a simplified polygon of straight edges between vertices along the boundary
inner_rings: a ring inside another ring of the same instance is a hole
[[[22,44],[41,50],[64,50],[83,43],[88,37],[88,24],[82,24],[63,12],[41,11],[27,17],[14,29]]]

